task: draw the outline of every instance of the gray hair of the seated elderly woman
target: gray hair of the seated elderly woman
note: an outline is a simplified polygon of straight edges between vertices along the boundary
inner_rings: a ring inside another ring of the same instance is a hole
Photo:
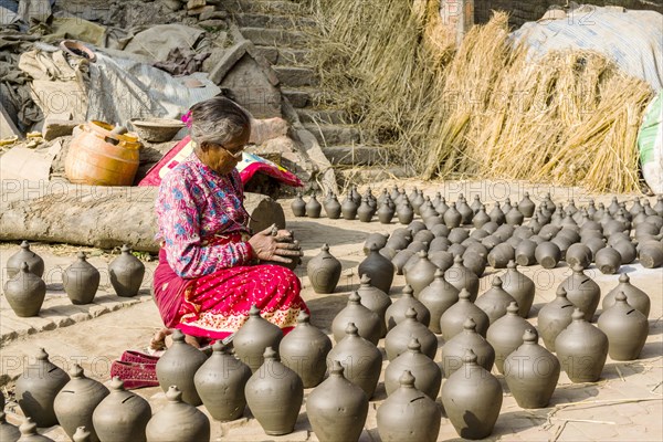
[[[202,144],[227,146],[251,130],[251,116],[240,105],[225,97],[214,97],[191,107],[191,139]]]

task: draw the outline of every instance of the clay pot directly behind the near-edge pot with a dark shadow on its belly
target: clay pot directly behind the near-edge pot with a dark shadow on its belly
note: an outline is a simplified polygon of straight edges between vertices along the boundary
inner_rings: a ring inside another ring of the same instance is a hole
[[[463,366],[463,357],[467,350],[476,355],[480,366],[491,371],[495,362],[495,350],[476,333],[476,324],[472,318],[466,318],[463,323],[463,332],[449,339],[442,347],[442,370],[446,378]]]

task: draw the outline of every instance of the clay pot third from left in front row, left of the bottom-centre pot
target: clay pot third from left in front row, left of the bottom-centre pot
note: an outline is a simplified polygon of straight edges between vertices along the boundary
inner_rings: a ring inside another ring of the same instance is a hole
[[[266,434],[292,433],[304,400],[304,385],[296,372],[278,361],[272,347],[263,357],[264,364],[246,382],[246,403]]]

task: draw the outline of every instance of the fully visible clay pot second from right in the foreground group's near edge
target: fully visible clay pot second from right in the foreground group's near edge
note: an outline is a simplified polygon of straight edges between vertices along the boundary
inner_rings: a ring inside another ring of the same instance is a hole
[[[571,382],[596,382],[606,365],[608,336],[589,324],[579,308],[572,319],[555,339],[557,357]]]

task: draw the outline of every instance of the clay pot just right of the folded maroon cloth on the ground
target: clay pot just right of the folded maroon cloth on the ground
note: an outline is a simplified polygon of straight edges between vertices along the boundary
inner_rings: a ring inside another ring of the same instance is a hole
[[[206,360],[207,356],[185,341],[183,333],[175,329],[172,346],[157,361],[157,379],[161,389],[168,391],[170,386],[177,386],[185,402],[193,407],[200,406],[202,401],[196,391],[193,376]]]

